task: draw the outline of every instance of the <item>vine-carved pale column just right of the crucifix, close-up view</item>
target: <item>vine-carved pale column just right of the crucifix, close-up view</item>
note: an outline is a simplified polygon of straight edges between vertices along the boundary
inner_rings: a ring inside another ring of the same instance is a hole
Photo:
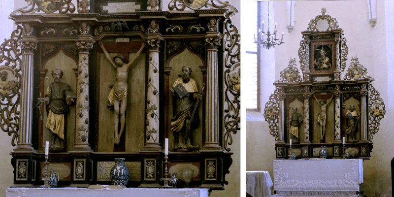
[[[146,100],[146,123],[144,150],[161,150],[159,136],[159,39],[147,40],[149,48],[148,90]],[[163,148],[164,149],[164,148]]]

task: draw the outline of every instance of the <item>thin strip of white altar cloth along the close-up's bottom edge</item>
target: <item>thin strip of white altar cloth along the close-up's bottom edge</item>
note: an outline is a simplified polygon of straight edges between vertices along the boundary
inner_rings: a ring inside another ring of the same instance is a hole
[[[208,188],[7,188],[7,197],[208,197]]]

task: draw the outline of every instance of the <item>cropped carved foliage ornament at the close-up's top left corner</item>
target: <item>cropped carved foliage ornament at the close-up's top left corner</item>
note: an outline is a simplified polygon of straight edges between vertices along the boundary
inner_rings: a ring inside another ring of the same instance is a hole
[[[27,5],[25,7],[14,10],[10,15],[15,14],[34,14],[41,10],[47,14],[52,14],[59,11],[61,14],[67,12],[73,13],[75,11],[75,6],[72,4],[72,0],[25,0]],[[37,5],[37,7],[35,7]]]

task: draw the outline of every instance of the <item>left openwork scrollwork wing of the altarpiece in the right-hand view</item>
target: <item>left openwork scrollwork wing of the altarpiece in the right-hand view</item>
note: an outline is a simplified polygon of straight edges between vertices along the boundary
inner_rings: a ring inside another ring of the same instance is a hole
[[[278,115],[279,115],[279,88],[269,96],[269,101],[265,103],[264,118],[269,124],[269,133],[278,141]]]

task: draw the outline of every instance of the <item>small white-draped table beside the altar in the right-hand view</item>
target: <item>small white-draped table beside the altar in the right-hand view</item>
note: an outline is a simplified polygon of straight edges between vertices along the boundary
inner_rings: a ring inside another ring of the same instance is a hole
[[[268,171],[246,171],[246,193],[252,197],[271,197],[274,184]]]

